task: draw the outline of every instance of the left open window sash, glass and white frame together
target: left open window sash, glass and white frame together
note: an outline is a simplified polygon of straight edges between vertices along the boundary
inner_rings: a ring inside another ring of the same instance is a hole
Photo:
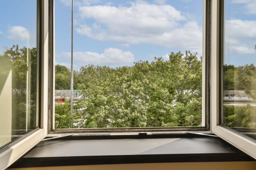
[[[40,114],[41,5],[40,0],[1,2],[0,169],[7,168],[46,135]]]

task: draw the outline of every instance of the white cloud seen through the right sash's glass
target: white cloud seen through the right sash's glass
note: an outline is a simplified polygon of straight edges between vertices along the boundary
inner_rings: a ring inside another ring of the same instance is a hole
[[[239,54],[256,53],[256,21],[231,19],[226,20],[225,41],[227,51]]]

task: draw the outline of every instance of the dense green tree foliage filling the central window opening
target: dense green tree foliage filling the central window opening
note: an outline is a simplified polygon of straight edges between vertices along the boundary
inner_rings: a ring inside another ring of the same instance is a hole
[[[199,126],[201,68],[201,61],[189,51],[171,53],[169,60],[139,61],[132,67],[82,67],[77,86],[84,99],[75,104],[80,115],[76,126]]]

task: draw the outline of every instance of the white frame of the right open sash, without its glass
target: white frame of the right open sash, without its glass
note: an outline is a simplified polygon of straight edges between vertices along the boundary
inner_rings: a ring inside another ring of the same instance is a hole
[[[212,132],[226,140],[244,153],[256,159],[256,143],[236,132],[220,126],[219,122],[219,40],[220,40],[220,3],[222,0],[212,0],[212,31],[211,31],[211,129]],[[224,4],[224,3],[223,3]],[[222,28],[223,29],[223,28]]]

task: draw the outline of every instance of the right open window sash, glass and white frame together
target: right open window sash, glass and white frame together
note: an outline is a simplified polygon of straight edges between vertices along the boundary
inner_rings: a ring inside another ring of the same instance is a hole
[[[219,46],[212,46],[213,51],[219,51],[212,53],[219,56],[214,61],[219,66],[213,67],[216,69],[213,71],[214,81],[217,82],[214,88],[219,91],[219,96],[214,96],[213,103],[219,110],[213,107],[212,114],[217,113],[213,116],[213,132],[255,158],[256,49],[253,25],[256,20],[251,3],[230,0],[214,3],[217,8],[213,17],[219,15],[220,29],[215,30],[217,39],[214,40]]]

